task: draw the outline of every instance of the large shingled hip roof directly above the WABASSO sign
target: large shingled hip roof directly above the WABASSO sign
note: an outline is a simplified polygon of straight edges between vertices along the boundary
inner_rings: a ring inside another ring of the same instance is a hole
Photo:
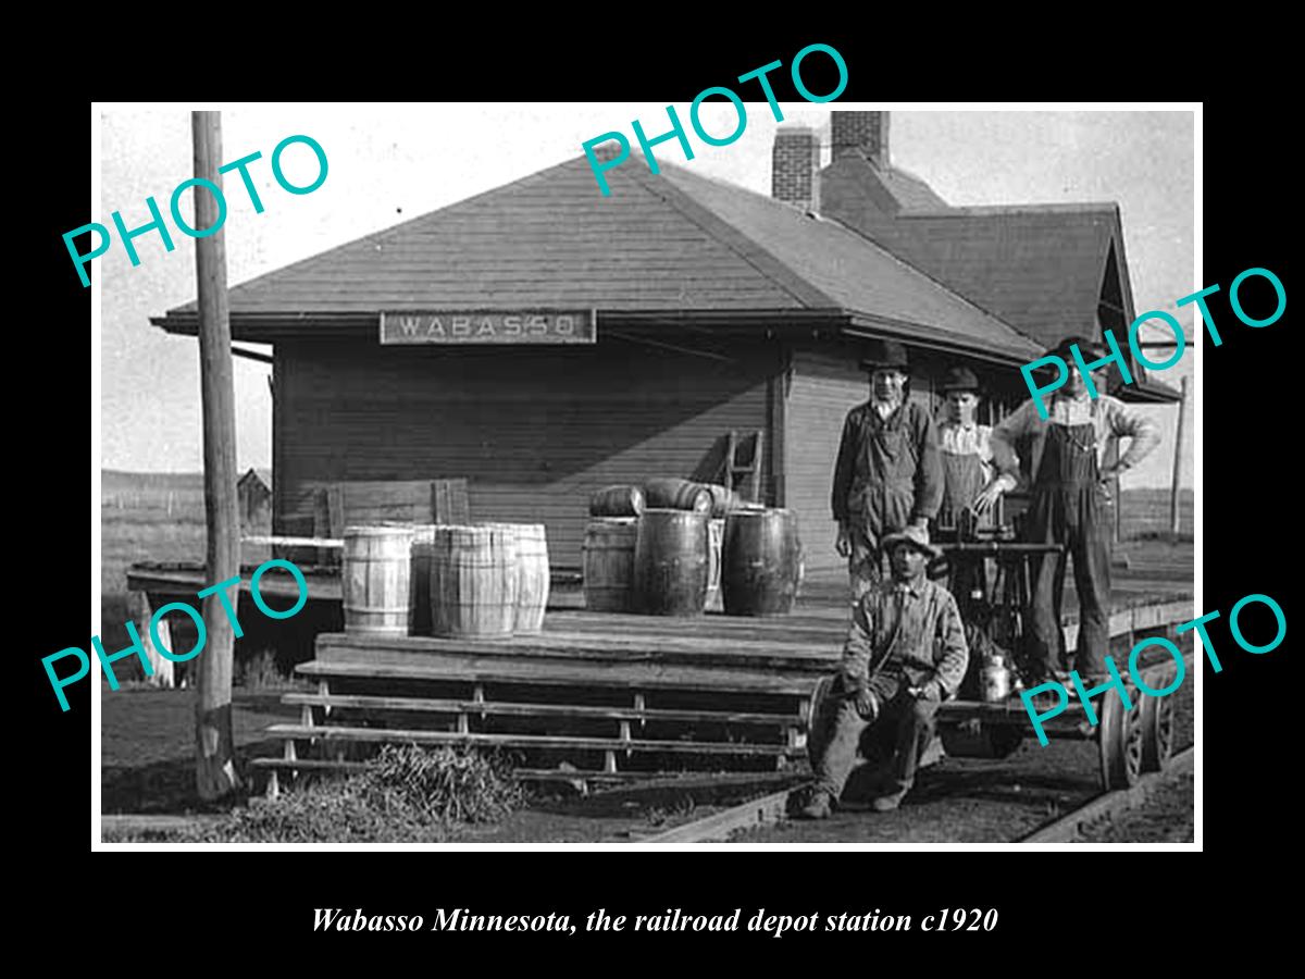
[[[629,161],[603,196],[585,157],[539,171],[230,291],[238,339],[275,324],[384,311],[596,308],[603,313],[827,313],[1002,359],[1036,345],[838,222]],[[194,304],[154,320],[194,330]]]

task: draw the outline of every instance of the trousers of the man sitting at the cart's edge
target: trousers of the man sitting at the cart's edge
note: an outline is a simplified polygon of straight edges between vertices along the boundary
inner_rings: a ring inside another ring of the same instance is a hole
[[[880,674],[870,681],[870,689],[880,700],[880,713],[867,721],[856,709],[853,698],[844,700],[831,721],[829,741],[816,765],[817,788],[835,799],[843,794],[848,775],[856,765],[856,752],[861,736],[872,726],[887,724],[895,732],[893,749],[893,781],[897,791],[906,792],[915,785],[920,756],[933,738],[934,715],[938,701],[917,700],[907,693],[910,684],[902,676]]]

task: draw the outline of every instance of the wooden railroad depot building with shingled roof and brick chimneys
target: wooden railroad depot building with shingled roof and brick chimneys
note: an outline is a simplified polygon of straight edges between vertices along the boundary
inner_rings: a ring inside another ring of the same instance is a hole
[[[231,288],[234,339],[274,350],[273,533],[320,529],[333,484],[466,479],[472,520],[543,522],[574,569],[595,489],[703,476],[760,433],[758,496],[809,568],[840,564],[833,466],[876,338],[908,346],[911,397],[937,409],[964,364],[1000,415],[1021,364],[1135,316],[1117,205],[950,208],[887,132],[834,112],[822,167],[782,128],[771,197],[633,158],[603,196],[581,155]],[[194,304],[153,322],[193,335]],[[1130,369],[1122,397],[1176,399]]]

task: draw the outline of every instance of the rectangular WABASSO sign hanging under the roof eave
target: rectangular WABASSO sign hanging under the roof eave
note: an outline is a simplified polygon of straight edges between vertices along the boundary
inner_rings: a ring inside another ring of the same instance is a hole
[[[596,343],[594,311],[381,313],[381,343]]]

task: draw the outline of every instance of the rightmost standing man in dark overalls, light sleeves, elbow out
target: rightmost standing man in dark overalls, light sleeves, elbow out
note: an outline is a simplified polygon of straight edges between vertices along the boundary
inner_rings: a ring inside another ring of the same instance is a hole
[[[1086,680],[1104,679],[1111,640],[1111,509],[1107,483],[1144,459],[1160,441],[1155,423],[1131,411],[1109,394],[1087,397],[1087,385],[1074,367],[1070,346],[1077,343],[1084,360],[1104,356],[1101,346],[1083,337],[1066,337],[1049,351],[1070,364],[1065,385],[1047,406],[1047,419],[1027,401],[992,431],[997,478],[980,493],[984,510],[997,497],[1015,488],[1021,476],[1030,484],[1024,514],[1024,539],[1030,543],[1060,543],[1067,553],[1047,555],[1035,561],[1030,658],[1043,677],[1065,680],[1061,598],[1065,593],[1065,561],[1074,560],[1079,628],[1074,668]],[[1105,371],[1092,375],[1098,390],[1105,389]],[[1114,465],[1100,467],[1108,439],[1129,437],[1129,450]],[[1030,679],[1043,679],[1030,677]]]

